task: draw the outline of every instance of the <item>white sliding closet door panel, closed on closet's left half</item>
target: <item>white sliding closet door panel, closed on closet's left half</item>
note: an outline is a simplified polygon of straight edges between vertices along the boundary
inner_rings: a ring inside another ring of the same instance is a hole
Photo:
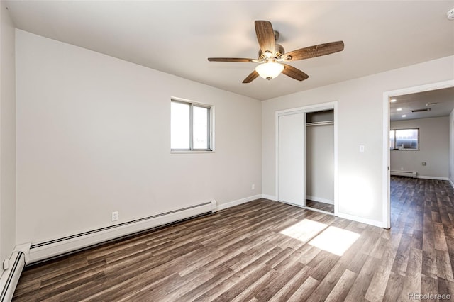
[[[279,201],[306,204],[306,114],[279,116]]]

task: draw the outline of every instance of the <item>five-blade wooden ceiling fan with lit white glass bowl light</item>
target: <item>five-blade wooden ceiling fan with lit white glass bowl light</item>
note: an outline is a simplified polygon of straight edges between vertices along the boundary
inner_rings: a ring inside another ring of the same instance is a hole
[[[334,52],[343,50],[343,41],[323,43],[319,45],[304,47],[299,50],[285,52],[282,45],[277,44],[279,32],[272,29],[270,21],[255,21],[255,33],[257,34],[260,50],[257,59],[246,59],[239,57],[209,57],[210,62],[248,62],[259,63],[255,70],[243,80],[243,83],[253,82],[259,75],[264,79],[273,79],[281,72],[288,77],[303,81],[309,76],[301,70],[284,64],[282,62],[309,59],[310,57],[320,57],[330,55]]]

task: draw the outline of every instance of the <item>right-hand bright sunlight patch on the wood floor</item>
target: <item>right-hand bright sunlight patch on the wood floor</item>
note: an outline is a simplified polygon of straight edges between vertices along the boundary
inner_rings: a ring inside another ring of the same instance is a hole
[[[342,256],[358,237],[360,237],[358,233],[331,226],[309,241],[309,245]]]

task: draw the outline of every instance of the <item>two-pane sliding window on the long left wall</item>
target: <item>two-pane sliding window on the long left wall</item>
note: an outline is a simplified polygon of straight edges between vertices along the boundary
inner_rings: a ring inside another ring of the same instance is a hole
[[[171,150],[211,151],[211,106],[171,101]]]

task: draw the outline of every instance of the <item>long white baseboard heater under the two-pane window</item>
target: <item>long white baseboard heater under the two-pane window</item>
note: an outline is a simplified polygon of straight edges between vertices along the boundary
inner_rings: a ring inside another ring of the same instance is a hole
[[[89,230],[87,232],[74,234],[55,240],[45,242],[33,243],[30,246],[28,257],[26,257],[26,264],[39,262],[44,259],[58,257],[65,255],[69,252],[81,250],[82,248],[97,245],[101,242],[114,240],[119,237],[131,235],[133,233],[150,230],[153,228],[161,227],[170,223],[175,223],[180,220],[201,216],[206,213],[216,212],[216,201],[208,201],[186,208],[179,208],[174,211],[168,211],[153,216],[148,216],[136,220],[131,220],[125,223],[118,223],[116,225],[109,225],[104,228],[96,230]]]

